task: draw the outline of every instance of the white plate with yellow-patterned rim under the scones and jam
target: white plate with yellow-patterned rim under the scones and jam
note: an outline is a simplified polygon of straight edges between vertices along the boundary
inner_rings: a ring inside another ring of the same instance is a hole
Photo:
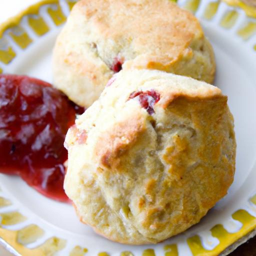
[[[51,82],[55,38],[75,0],[44,0],[0,26],[0,72]],[[215,85],[235,120],[236,173],[228,194],[187,231],[156,245],[111,242],[81,224],[71,205],[52,201],[19,177],[0,174],[0,240],[16,255],[226,255],[256,228],[256,19],[218,0],[179,0],[213,45]]]

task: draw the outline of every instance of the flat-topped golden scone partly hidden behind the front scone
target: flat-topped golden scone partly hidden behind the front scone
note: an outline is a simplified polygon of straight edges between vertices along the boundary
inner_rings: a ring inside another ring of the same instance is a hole
[[[199,21],[170,0],[80,0],[57,38],[53,84],[88,107],[114,72],[159,69],[212,83],[212,47]]]

